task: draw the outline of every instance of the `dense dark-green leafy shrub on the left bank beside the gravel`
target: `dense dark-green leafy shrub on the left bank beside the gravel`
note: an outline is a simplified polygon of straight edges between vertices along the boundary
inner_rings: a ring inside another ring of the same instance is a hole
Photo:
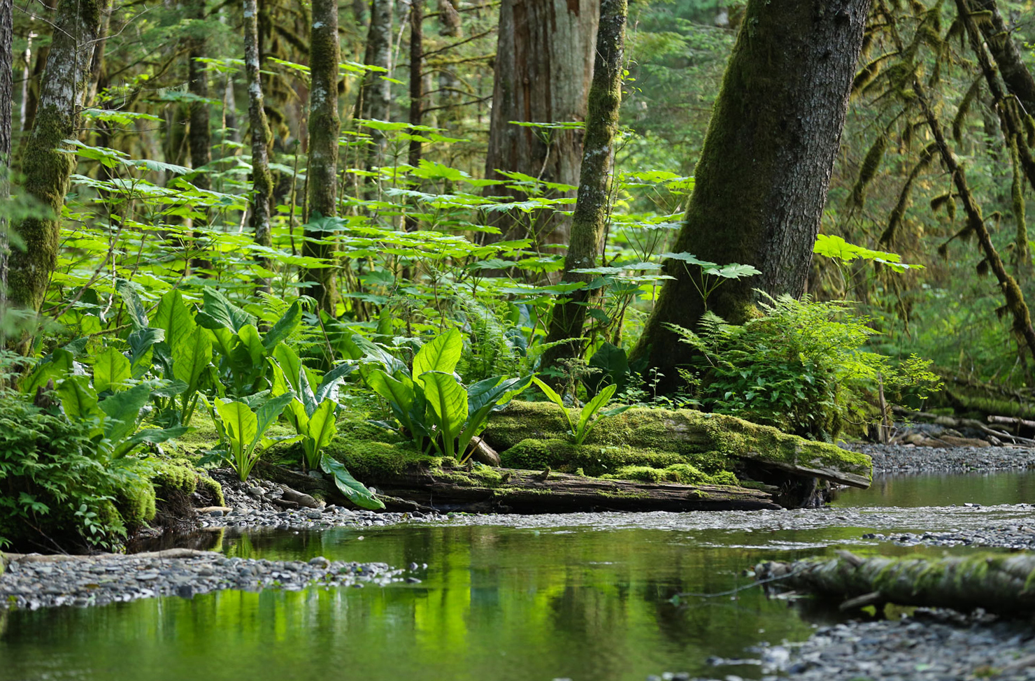
[[[154,514],[143,462],[107,461],[92,428],[0,395],[0,545],[112,549]]]

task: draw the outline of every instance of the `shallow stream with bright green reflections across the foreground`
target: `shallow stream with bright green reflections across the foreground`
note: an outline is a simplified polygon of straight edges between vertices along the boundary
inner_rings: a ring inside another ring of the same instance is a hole
[[[419,582],[0,612],[0,679],[643,681],[793,673],[794,649],[785,644],[848,618],[808,599],[767,599],[745,568],[837,547],[862,556],[966,553],[972,549],[949,540],[900,540],[1024,532],[1033,487],[1035,472],[888,475],[823,509],[226,528],[210,534],[230,558],[382,561],[409,566]],[[903,612],[889,608],[887,617]]]

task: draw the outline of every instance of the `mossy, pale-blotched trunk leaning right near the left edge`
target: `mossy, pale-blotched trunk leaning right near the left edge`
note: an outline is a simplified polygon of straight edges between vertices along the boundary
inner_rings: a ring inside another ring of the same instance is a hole
[[[25,190],[51,212],[16,228],[25,249],[10,255],[10,302],[38,312],[57,263],[61,206],[76,165],[64,140],[76,138],[90,60],[108,0],[61,0],[40,86],[39,106],[25,148]]]

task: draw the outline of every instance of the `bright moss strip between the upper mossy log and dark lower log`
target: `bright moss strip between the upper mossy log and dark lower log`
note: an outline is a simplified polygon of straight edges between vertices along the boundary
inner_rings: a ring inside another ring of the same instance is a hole
[[[626,466],[666,468],[686,463],[684,456],[671,451],[575,445],[565,440],[523,440],[500,454],[500,461],[505,468],[542,470],[549,466],[561,473],[582,469],[583,475],[594,477]]]

